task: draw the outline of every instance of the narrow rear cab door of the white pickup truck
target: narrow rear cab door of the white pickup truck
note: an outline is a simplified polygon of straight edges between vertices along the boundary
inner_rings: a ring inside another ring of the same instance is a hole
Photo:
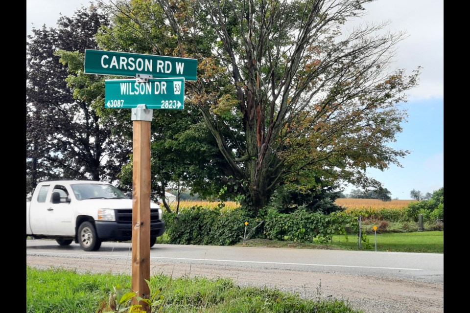
[[[31,199],[29,205],[29,225],[33,234],[47,235],[47,208],[49,207],[47,196],[50,186],[42,185],[37,188],[39,188],[38,195],[35,199]]]

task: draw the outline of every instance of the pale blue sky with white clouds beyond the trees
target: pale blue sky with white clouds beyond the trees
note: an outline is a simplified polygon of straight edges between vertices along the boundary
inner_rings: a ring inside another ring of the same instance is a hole
[[[72,16],[82,0],[26,0],[26,36],[32,27],[54,27],[62,15]],[[394,68],[406,74],[422,67],[420,84],[408,90],[408,101],[400,107],[408,112],[407,122],[392,148],[409,150],[400,159],[402,167],[390,166],[381,172],[368,169],[368,176],[382,182],[392,199],[411,199],[410,191],[432,193],[444,187],[444,0],[377,0],[364,5],[367,15],[359,22],[385,22],[385,30],[403,31],[407,37],[398,45]],[[344,186],[349,193],[354,186]]]

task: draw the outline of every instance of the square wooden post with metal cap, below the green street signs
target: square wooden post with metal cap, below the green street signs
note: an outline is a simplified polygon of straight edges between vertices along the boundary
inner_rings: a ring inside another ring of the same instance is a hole
[[[134,121],[132,164],[132,291],[141,298],[149,298],[150,280],[150,122],[152,110],[145,106],[132,109]],[[145,302],[133,298],[133,304],[141,304],[142,311],[150,312]]]

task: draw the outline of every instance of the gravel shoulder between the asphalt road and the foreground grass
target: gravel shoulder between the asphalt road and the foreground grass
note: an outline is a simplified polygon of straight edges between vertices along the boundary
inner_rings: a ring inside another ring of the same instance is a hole
[[[109,261],[109,262],[108,262]],[[88,260],[74,257],[26,256],[26,265],[77,272],[132,274],[129,260]],[[443,313],[444,283],[428,283],[346,275],[335,272],[306,272],[152,262],[150,274],[173,277],[230,278],[239,286],[276,288],[299,293],[303,298],[340,299],[364,313]],[[260,283],[261,282],[261,283]]]

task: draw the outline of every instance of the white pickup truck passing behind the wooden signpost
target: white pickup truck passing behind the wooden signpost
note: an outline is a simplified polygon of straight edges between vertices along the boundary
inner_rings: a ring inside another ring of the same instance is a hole
[[[165,230],[163,212],[150,203],[150,246]],[[132,239],[132,199],[115,186],[91,180],[40,182],[26,201],[26,238],[73,241],[96,251],[103,241]]]

